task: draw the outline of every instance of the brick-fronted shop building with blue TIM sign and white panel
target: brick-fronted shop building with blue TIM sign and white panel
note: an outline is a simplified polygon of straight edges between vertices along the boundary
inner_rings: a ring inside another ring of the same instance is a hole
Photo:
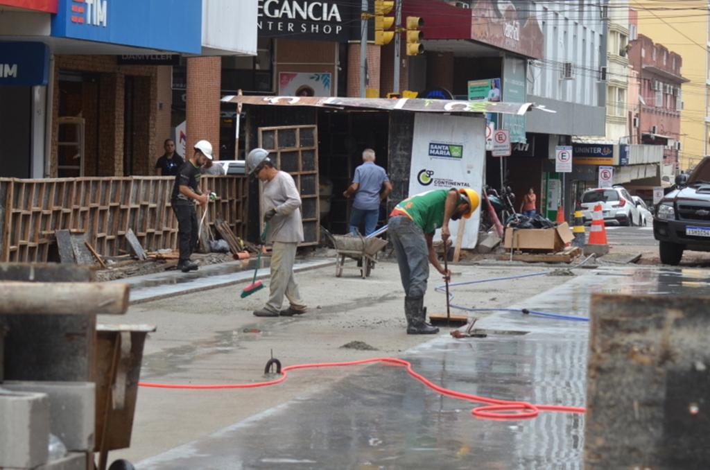
[[[217,141],[219,65],[210,84],[210,64],[219,54],[256,55],[251,2],[154,0],[148,8],[138,0],[0,0],[0,9],[3,57],[21,55],[20,70],[40,70],[30,81],[21,73],[0,81],[0,142],[9,162],[1,176],[153,174],[165,138],[180,141],[173,129],[173,65],[206,62],[187,106],[195,111],[195,128],[183,134]],[[25,53],[27,47],[33,52]],[[190,148],[199,138],[182,140]]]

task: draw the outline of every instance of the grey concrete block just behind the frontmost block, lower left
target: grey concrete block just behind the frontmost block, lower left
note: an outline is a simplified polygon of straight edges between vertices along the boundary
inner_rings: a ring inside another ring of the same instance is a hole
[[[50,405],[50,432],[69,451],[94,449],[96,386],[93,382],[5,381],[17,392],[46,393]]]

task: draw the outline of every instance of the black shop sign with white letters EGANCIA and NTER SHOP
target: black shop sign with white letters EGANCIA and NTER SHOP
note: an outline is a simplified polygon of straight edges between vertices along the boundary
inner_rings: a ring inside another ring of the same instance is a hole
[[[351,39],[356,2],[312,0],[258,0],[260,38],[345,42]]]

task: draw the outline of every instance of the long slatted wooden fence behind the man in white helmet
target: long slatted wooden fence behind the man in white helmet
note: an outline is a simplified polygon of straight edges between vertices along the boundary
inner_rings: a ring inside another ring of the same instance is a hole
[[[0,261],[56,261],[55,231],[85,232],[97,253],[118,256],[131,229],[147,251],[178,247],[178,221],[170,207],[173,177],[0,178]],[[202,190],[217,194],[204,222],[224,219],[246,238],[248,180],[203,176]],[[203,207],[197,207],[202,218]],[[214,233],[217,233],[214,231]]]

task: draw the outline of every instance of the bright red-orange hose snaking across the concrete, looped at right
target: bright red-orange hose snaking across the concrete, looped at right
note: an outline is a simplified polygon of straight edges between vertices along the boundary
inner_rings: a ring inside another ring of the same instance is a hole
[[[469,393],[456,392],[454,390],[449,390],[448,388],[443,388],[437,386],[435,383],[428,381],[426,378],[416,373],[412,369],[412,364],[408,361],[403,361],[402,359],[393,359],[391,357],[380,357],[376,359],[363,359],[361,361],[350,361],[350,362],[329,362],[324,364],[300,364],[295,366],[287,366],[282,369],[283,375],[274,380],[268,382],[258,382],[258,383],[241,383],[241,384],[224,384],[224,385],[171,385],[166,383],[138,383],[142,387],[158,387],[158,388],[250,388],[250,387],[261,387],[274,385],[275,383],[280,383],[286,380],[288,376],[287,371],[295,370],[297,368],[310,368],[310,367],[332,367],[332,366],[356,366],[358,364],[368,364],[370,362],[386,362],[394,366],[407,368],[410,376],[413,376],[425,386],[431,388],[432,390],[446,395],[452,398],[459,398],[460,400],[466,400],[474,403],[485,403],[486,406],[480,406],[471,410],[471,414],[476,417],[485,419],[498,419],[498,420],[519,420],[520,418],[531,418],[536,417],[540,411],[556,411],[556,412],[569,412],[569,413],[584,413],[584,408],[578,408],[574,406],[558,406],[558,405],[532,405],[530,403],[525,403],[521,401],[512,400],[496,400],[495,398],[485,398],[479,395],[471,395]]]

